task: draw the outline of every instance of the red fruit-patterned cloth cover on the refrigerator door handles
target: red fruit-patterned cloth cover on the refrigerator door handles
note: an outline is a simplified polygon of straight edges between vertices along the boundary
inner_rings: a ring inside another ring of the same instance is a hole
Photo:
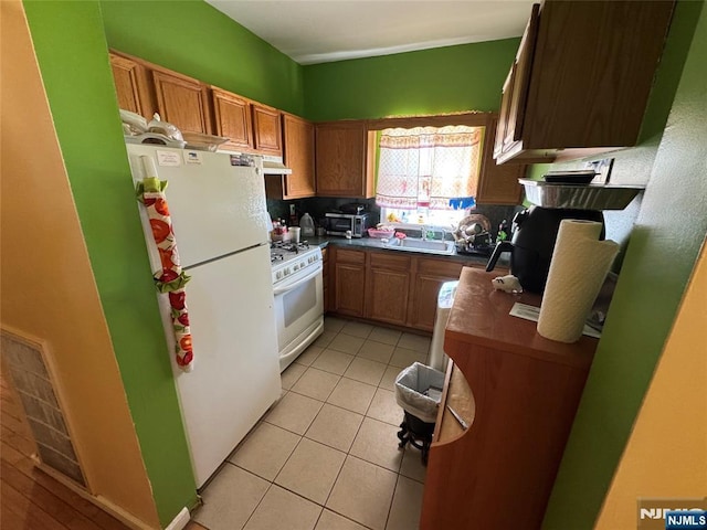
[[[149,157],[143,157],[147,174],[156,174],[154,162]],[[146,162],[148,159],[149,162]],[[167,294],[175,331],[175,359],[179,368],[184,372],[193,369],[193,349],[191,346],[191,331],[189,329],[189,312],[187,309],[187,293],[184,285],[189,276],[181,269],[177,240],[169,215],[169,208],[165,197],[167,182],[157,177],[146,177],[136,187],[138,200],[145,205],[147,216],[152,229],[152,237],[159,252],[161,271],[155,273],[157,290]]]

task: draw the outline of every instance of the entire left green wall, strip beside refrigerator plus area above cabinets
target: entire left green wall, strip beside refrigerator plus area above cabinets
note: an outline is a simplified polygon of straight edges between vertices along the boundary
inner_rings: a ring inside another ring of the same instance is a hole
[[[162,526],[197,502],[107,47],[302,115],[303,67],[203,1],[25,0]]]

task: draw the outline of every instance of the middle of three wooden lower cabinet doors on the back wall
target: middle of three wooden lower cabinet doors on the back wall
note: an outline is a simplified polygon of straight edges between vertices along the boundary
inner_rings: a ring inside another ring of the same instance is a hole
[[[412,258],[391,253],[370,253],[366,317],[405,326]]]

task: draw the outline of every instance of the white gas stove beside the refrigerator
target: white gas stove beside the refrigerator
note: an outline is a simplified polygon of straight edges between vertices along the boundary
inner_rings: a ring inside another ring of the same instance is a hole
[[[321,250],[275,242],[271,262],[282,372],[324,330]]]

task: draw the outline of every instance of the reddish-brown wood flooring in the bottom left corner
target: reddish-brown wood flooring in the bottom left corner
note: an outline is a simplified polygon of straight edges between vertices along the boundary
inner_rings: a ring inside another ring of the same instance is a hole
[[[0,378],[0,528],[129,530],[123,522],[34,467],[34,443],[10,383]],[[190,522],[186,530],[208,530]]]

